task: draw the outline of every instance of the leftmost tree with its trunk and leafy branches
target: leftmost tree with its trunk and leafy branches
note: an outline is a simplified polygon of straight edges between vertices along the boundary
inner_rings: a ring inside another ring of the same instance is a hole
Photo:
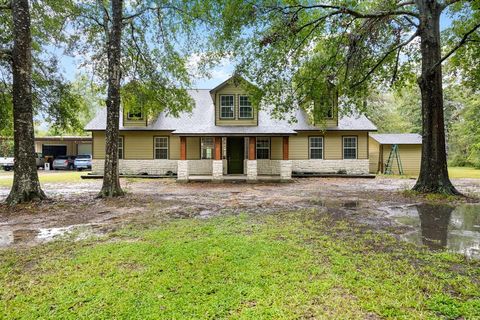
[[[15,157],[9,204],[46,198],[35,163],[34,115],[57,128],[78,127],[81,97],[72,93],[45,50],[62,39],[62,10],[53,0],[0,3],[0,133],[13,135]]]

